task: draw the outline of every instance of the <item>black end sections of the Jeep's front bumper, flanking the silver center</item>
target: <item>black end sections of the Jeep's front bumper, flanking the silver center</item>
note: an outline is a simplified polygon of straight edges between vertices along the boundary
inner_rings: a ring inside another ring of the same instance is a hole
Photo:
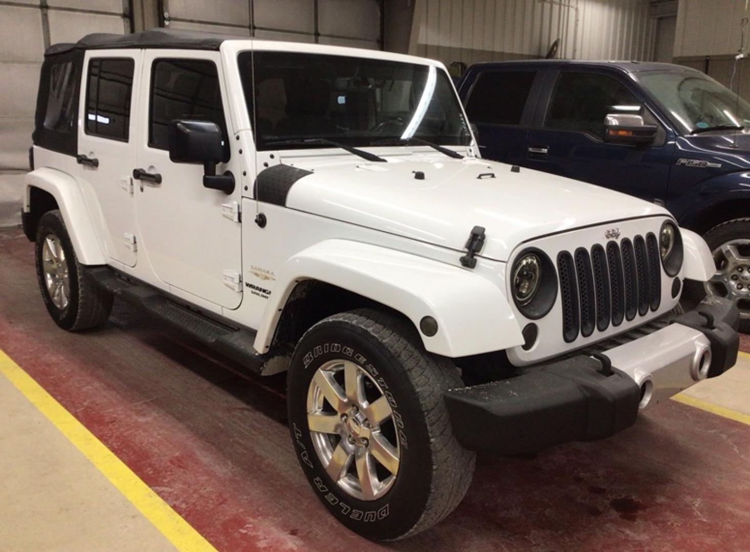
[[[709,377],[736,363],[739,312],[730,301],[704,300],[671,322],[709,340]],[[638,415],[640,388],[604,355],[578,354],[505,380],[453,389],[443,398],[463,446],[513,455],[604,439],[628,428]]]

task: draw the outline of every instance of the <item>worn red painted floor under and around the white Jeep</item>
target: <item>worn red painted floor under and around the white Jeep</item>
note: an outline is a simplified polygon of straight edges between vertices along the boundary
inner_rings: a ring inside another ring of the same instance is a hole
[[[0,232],[0,348],[221,551],[750,550],[750,427],[672,401],[599,443],[480,457],[454,514],[374,545],[302,476],[284,377],[213,360],[118,304],[102,330],[58,330],[33,248]]]

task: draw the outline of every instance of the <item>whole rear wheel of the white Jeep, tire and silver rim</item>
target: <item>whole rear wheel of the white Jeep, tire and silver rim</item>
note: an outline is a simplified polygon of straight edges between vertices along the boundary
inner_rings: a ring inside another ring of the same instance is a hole
[[[44,213],[36,239],[37,279],[49,315],[63,330],[101,326],[113,296],[86,278],[59,210]]]

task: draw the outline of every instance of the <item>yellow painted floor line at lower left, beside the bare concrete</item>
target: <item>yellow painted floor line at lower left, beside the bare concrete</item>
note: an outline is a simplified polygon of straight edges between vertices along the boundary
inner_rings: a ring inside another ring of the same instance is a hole
[[[91,431],[55,401],[20,366],[0,351],[0,374],[5,375],[46,419],[73,443],[92,464],[109,479],[121,494],[181,551],[216,551],[200,533],[190,527],[169,504],[151,491],[129,467]]]

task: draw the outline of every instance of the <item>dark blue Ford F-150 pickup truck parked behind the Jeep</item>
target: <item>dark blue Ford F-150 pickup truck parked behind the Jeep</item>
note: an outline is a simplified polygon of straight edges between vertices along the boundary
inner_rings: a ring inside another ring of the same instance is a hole
[[[637,61],[502,61],[458,84],[482,157],[662,204],[702,234],[750,330],[750,104],[700,71]]]

